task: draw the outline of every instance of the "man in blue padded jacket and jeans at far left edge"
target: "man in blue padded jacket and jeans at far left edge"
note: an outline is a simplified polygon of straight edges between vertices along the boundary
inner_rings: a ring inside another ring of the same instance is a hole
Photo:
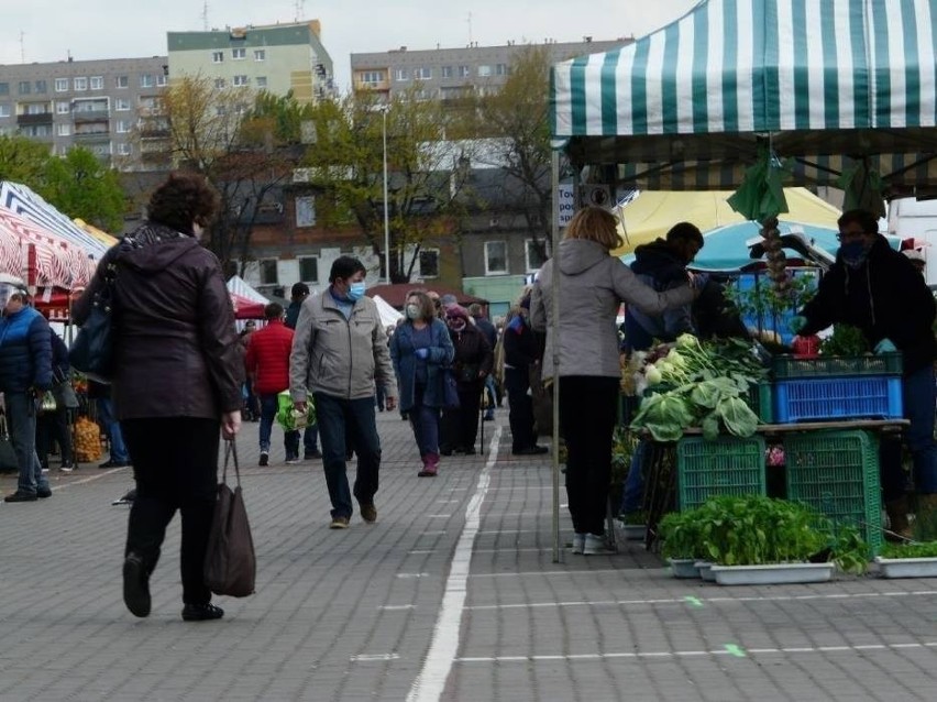
[[[0,391],[20,480],[4,502],[35,502],[51,497],[48,480],[36,456],[36,404],[52,387],[52,342],[48,322],[27,305],[20,285],[0,283]]]

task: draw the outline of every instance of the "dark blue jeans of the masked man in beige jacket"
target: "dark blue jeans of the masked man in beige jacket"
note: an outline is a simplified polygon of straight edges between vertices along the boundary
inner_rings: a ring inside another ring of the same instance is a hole
[[[322,468],[332,502],[332,517],[350,518],[351,492],[345,472],[345,432],[353,437],[357,454],[354,496],[361,504],[372,504],[377,492],[381,468],[381,437],[374,418],[374,396],[344,399],[316,393],[317,421],[322,439]]]

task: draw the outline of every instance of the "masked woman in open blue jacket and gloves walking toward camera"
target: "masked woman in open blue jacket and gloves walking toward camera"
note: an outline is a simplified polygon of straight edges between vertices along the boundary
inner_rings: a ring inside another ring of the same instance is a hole
[[[422,290],[411,290],[406,321],[390,337],[390,359],[400,390],[400,412],[407,413],[420,452],[420,478],[439,473],[439,412],[444,404],[443,369],[454,350],[436,305]]]

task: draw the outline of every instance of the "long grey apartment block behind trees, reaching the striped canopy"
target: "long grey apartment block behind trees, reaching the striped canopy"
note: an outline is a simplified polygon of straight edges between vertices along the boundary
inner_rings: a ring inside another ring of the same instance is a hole
[[[606,52],[633,39],[594,42],[548,41],[543,46],[551,62],[564,61],[583,54]],[[510,75],[510,65],[518,53],[531,44],[510,42],[503,46],[472,45],[459,48],[431,48],[411,51],[400,48],[368,54],[351,55],[352,86],[355,90],[374,90],[392,98],[395,91],[420,85],[426,99],[454,100],[466,94],[497,91]],[[537,44],[533,44],[537,45]]]

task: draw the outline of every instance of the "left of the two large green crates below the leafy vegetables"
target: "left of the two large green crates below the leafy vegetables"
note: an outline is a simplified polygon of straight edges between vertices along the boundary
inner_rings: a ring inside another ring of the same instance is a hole
[[[765,495],[764,439],[686,437],[676,445],[677,506],[698,507],[716,495]]]

